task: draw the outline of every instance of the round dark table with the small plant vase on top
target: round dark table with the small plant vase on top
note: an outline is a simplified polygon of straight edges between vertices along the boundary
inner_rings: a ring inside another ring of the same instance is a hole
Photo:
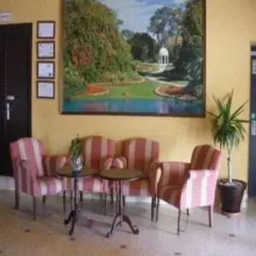
[[[57,174],[61,177],[68,177],[74,179],[74,209],[68,215],[68,218],[64,220],[64,224],[69,224],[72,221],[71,229],[69,230],[69,235],[73,235],[74,226],[78,221],[78,177],[90,177],[91,175],[96,174],[98,171],[87,166],[84,166],[81,171],[73,171],[72,166],[63,166],[57,170]],[[92,221],[90,219],[86,219],[88,226],[91,227]]]

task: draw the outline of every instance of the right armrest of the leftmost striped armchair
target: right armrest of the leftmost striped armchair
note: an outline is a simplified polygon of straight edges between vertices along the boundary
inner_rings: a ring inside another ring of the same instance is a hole
[[[57,176],[57,170],[67,164],[66,155],[44,155],[43,165],[46,176]]]

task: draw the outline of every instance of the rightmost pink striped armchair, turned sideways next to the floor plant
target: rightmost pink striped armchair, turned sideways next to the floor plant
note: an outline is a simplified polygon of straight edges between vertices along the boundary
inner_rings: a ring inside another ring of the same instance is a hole
[[[157,189],[156,221],[160,200],[178,209],[177,235],[180,232],[181,211],[195,207],[208,207],[209,226],[218,178],[221,152],[210,145],[195,147],[190,163],[161,162],[160,181]]]

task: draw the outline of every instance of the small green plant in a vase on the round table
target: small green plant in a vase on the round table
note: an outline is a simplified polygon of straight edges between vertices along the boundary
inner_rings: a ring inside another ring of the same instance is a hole
[[[73,171],[80,171],[83,167],[82,159],[82,144],[79,135],[74,137],[69,147],[70,164],[73,167]]]

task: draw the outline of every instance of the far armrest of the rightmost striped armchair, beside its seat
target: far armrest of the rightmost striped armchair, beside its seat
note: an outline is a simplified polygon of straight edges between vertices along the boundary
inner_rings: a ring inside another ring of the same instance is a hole
[[[159,187],[182,186],[189,178],[190,164],[186,162],[161,162]]]

